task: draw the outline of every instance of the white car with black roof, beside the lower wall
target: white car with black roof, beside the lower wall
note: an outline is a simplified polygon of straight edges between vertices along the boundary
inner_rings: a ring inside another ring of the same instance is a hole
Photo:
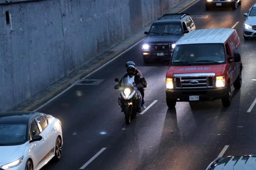
[[[0,113],[0,170],[39,170],[61,159],[61,121],[39,112]]]

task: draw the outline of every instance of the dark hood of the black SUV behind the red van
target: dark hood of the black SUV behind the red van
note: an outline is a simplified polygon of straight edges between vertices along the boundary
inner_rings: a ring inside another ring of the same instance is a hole
[[[143,43],[176,43],[182,35],[148,35]]]

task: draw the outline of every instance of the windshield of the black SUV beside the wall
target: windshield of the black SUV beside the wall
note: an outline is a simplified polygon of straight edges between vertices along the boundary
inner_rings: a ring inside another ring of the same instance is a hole
[[[153,24],[149,30],[150,34],[181,34],[181,25],[179,23]]]

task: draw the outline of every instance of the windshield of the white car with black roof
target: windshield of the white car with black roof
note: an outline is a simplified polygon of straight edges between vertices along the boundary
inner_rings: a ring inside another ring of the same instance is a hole
[[[0,124],[0,146],[21,145],[26,142],[26,124]]]

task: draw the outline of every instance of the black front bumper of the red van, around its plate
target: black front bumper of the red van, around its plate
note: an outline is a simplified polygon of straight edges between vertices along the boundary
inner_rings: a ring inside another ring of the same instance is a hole
[[[199,100],[216,100],[226,96],[227,87],[212,89],[167,89],[166,98],[174,101],[190,101],[189,96],[199,96]],[[194,100],[193,100],[194,101]]]

